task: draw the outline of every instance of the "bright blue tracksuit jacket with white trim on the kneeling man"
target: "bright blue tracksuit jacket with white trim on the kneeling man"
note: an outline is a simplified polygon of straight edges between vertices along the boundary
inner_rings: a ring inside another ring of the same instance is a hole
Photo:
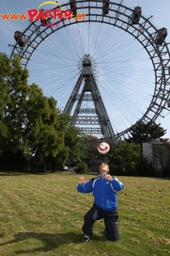
[[[116,177],[113,177],[112,182],[105,179],[105,177],[99,176],[91,178],[88,183],[82,183],[82,185],[77,183],[78,192],[93,192],[94,204],[104,209],[105,211],[116,209],[116,191],[122,190],[123,187],[123,183],[120,182]]]

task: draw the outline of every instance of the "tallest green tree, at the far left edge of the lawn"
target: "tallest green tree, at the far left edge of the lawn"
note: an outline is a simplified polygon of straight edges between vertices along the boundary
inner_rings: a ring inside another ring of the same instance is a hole
[[[24,97],[26,90],[29,88],[27,83],[28,72],[20,67],[20,60],[16,56],[13,61],[9,61],[6,55],[0,54],[0,79],[3,95],[8,95],[6,101],[1,108],[0,119],[0,143],[3,149],[15,152],[16,148],[20,147],[20,108],[24,105]],[[4,64],[6,62],[6,65]]]

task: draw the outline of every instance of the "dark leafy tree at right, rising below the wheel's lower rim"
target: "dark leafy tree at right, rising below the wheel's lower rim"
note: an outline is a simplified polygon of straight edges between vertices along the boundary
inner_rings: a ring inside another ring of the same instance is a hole
[[[160,124],[156,125],[155,122],[150,121],[147,124],[138,121],[132,126],[129,137],[126,139],[129,143],[144,143],[150,142],[152,139],[160,138],[166,134]]]

